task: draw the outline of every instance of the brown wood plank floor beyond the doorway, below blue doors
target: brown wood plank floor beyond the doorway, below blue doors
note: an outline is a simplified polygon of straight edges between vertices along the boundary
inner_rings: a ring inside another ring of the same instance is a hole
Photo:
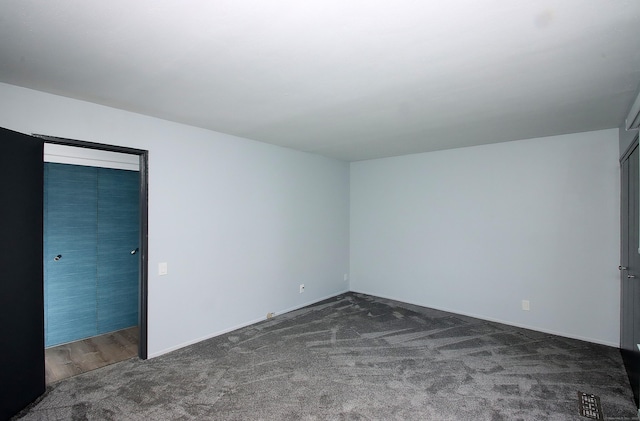
[[[45,349],[47,384],[138,355],[138,328],[118,330],[100,336]]]

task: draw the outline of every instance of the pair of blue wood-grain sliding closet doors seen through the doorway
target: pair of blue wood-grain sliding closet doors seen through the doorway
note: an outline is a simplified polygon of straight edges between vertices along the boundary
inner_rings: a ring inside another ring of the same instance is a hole
[[[137,171],[45,164],[45,346],[138,324],[139,186]]]

